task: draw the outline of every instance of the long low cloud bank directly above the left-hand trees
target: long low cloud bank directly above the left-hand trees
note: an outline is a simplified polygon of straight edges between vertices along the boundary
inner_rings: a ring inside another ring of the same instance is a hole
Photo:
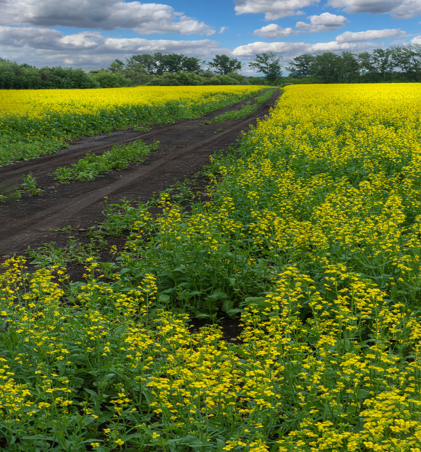
[[[92,68],[108,66],[115,58],[148,52],[182,53],[199,58],[221,53],[218,43],[210,39],[116,38],[102,36],[99,32],[63,35],[58,30],[35,27],[0,26],[0,42],[3,58],[22,60],[35,66],[65,64]]]

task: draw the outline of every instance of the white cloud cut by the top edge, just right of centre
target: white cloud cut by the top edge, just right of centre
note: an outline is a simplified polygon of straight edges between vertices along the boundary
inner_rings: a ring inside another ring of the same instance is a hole
[[[300,8],[319,3],[320,0],[234,0],[236,14],[265,14],[265,20],[304,14]]]

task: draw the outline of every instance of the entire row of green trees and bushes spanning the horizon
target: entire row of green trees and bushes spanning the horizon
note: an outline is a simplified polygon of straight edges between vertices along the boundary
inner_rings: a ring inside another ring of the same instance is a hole
[[[109,67],[82,69],[35,67],[0,58],[0,89],[113,88],[140,85],[230,85],[287,83],[375,83],[421,81],[421,45],[408,44],[371,52],[304,54],[282,66],[274,52],[255,56],[248,65],[262,77],[244,76],[236,58],[216,55],[211,61],[161,52],[115,59]],[[282,76],[282,71],[289,71]]]

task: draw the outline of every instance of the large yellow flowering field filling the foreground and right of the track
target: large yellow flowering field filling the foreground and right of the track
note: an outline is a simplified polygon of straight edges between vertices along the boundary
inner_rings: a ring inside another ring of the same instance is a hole
[[[0,446],[419,452],[420,91],[288,86],[205,201],[109,204],[83,281],[9,259]]]

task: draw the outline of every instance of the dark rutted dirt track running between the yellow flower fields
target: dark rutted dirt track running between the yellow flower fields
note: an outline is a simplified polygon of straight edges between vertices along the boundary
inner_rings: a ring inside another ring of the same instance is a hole
[[[226,123],[203,125],[222,112],[236,109],[231,105],[204,118],[180,121],[169,126],[154,126],[149,132],[126,130],[112,135],[89,137],[72,143],[54,155],[19,162],[0,168],[0,191],[13,192],[22,183],[22,176],[32,172],[43,196],[24,194],[20,201],[0,204],[0,255],[10,255],[25,250],[28,245],[55,241],[57,233],[50,231],[70,224],[87,229],[103,219],[103,198],[119,202],[123,197],[147,201],[153,193],[160,192],[184,180],[209,162],[215,151],[227,150],[236,142],[241,131],[257,118],[268,114],[278,96],[259,105],[250,117]],[[118,143],[131,143],[141,138],[146,144],[159,141],[159,148],[144,163],[131,165],[90,182],[60,184],[49,176],[57,167],[71,165],[87,152],[101,154]]]

